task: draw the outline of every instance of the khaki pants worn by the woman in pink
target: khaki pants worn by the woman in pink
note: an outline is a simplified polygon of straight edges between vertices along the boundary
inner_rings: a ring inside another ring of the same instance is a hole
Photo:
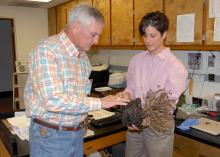
[[[126,157],[172,157],[174,125],[166,133],[155,134],[149,128],[127,132]]]

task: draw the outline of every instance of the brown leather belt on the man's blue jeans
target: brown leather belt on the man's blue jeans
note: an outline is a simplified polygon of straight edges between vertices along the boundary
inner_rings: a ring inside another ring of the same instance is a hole
[[[35,122],[39,125],[51,128],[51,129],[63,130],[63,131],[78,131],[83,127],[83,124],[80,124],[78,127],[59,126],[59,125],[54,125],[54,124],[47,123],[47,122],[42,121],[38,118],[34,118],[33,122]]]

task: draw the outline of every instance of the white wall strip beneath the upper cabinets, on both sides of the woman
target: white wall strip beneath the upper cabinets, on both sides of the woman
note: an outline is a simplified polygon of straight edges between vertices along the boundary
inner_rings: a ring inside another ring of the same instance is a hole
[[[101,62],[107,63],[109,65],[116,66],[128,66],[132,56],[141,50],[109,50],[100,49],[92,50],[89,52],[89,57],[91,62]],[[188,69],[188,53],[197,53],[198,51],[173,51],[174,54],[182,61],[182,63]],[[209,82],[204,78],[207,74],[213,73],[216,76],[220,76],[220,52],[213,51],[215,55],[215,67],[209,68],[208,66],[208,56],[211,53],[208,51],[201,51],[202,54],[202,66],[201,70],[195,70],[193,76],[193,96],[199,98],[205,98],[207,96],[213,95],[214,93],[220,93],[220,82]],[[188,70],[192,73],[192,70]],[[188,91],[186,92],[188,94]]]

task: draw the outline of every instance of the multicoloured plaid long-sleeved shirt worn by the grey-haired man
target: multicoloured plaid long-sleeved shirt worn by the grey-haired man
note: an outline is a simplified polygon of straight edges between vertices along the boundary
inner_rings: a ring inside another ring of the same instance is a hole
[[[91,66],[65,32],[42,41],[29,56],[24,100],[29,117],[61,126],[77,126],[87,112],[101,108],[91,90]]]

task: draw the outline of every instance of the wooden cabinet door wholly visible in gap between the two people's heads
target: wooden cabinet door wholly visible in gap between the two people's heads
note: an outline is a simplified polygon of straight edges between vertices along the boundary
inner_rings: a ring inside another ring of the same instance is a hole
[[[111,1],[112,46],[133,45],[133,0]]]

